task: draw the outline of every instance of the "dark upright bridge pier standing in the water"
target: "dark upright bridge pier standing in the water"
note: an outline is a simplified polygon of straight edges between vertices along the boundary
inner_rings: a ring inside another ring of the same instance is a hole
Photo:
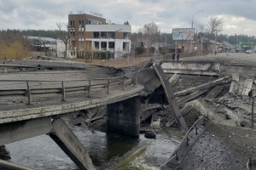
[[[134,97],[107,105],[108,133],[121,133],[131,137],[139,135],[141,99]]]

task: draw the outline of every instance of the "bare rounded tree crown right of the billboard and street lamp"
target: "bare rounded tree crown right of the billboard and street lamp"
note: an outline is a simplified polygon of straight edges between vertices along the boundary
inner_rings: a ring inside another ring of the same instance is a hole
[[[223,31],[224,20],[222,18],[218,18],[217,16],[212,16],[207,23],[207,27],[210,34],[213,35],[215,32],[218,34],[218,32]]]

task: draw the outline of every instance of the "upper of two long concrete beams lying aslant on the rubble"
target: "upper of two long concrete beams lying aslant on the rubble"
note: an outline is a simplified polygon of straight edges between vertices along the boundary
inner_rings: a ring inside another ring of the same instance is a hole
[[[214,80],[212,82],[203,83],[199,86],[179,91],[179,92],[175,93],[175,95],[176,96],[183,96],[183,95],[186,95],[186,94],[191,94],[191,93],[193,93],[197,90],[206,90],[206,89],[212,88],[216,85],[225,84],[225,83],[228,83],[228,82],[230,82],[230,77],[223,77],[223,78],[219,78],[217,80]]]

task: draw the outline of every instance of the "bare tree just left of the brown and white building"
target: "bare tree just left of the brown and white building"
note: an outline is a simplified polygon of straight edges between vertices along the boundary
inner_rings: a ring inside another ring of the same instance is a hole
[[[59,34],[59,37],[61,39],[62,42],[64,42],[65,44],[65,55],[64,55],[64,59],[67,59],[67,44],[68,44],[68,41],[71,37],[73,37],[73,35],[70,35],[68,33],[68,31],[62,31],[62,28],[63,26],[65,28],[67,28],[67,24],[64,24],[64,23],[56,23],[57,27],[58,27],[58,34]]]

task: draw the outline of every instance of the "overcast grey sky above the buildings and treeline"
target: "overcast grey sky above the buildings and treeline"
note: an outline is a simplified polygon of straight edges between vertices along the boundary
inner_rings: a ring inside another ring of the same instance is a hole
[[[256,0],[0,0],[0,29],[55,30],[70,11],[94,11],[116,24],[126,20],[137,31],[154,21],[161,32],[205,25],[211,16],[224,20],[222,33],[256,36]]]

